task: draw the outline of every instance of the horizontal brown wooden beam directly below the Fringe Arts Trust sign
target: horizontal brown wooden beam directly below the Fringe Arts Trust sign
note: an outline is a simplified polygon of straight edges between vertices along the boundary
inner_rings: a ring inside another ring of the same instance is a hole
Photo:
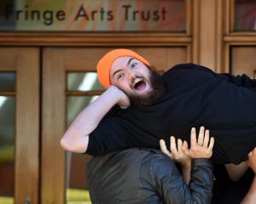
[[[191,42],[191,37],[189,35],[178,33],[0,33],[0,44],[9,46],[165,46],[170,44],[184,44],[189,42]]]

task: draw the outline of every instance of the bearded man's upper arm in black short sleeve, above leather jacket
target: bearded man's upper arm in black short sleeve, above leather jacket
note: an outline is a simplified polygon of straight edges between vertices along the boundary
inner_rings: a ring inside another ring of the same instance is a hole
[[[159,139],[153,134],[138,128],[136,124],[119,116],[108,116],[89,134],[85,153],[99,156],[132,147],[158,148],[158,142]]]

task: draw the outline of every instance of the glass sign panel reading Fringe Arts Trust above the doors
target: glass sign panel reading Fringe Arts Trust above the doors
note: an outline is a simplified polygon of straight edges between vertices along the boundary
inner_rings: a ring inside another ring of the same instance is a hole
[[[184,0],[1,0],[1,31],[185,31]]]

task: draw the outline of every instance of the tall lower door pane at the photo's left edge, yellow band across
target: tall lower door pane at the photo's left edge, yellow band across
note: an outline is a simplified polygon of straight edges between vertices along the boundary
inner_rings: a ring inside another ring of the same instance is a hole
[[[0,96],[0,201],[15,186],[15,97]]]

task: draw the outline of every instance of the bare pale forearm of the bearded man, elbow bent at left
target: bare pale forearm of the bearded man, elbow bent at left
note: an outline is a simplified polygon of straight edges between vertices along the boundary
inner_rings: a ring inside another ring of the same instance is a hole
[[[98,126],[102,117],[117,103],[114,94],[113,90],[108,89],[79,113],[61,139],[63,149],[80,153],[87,150],[88,135]]]

